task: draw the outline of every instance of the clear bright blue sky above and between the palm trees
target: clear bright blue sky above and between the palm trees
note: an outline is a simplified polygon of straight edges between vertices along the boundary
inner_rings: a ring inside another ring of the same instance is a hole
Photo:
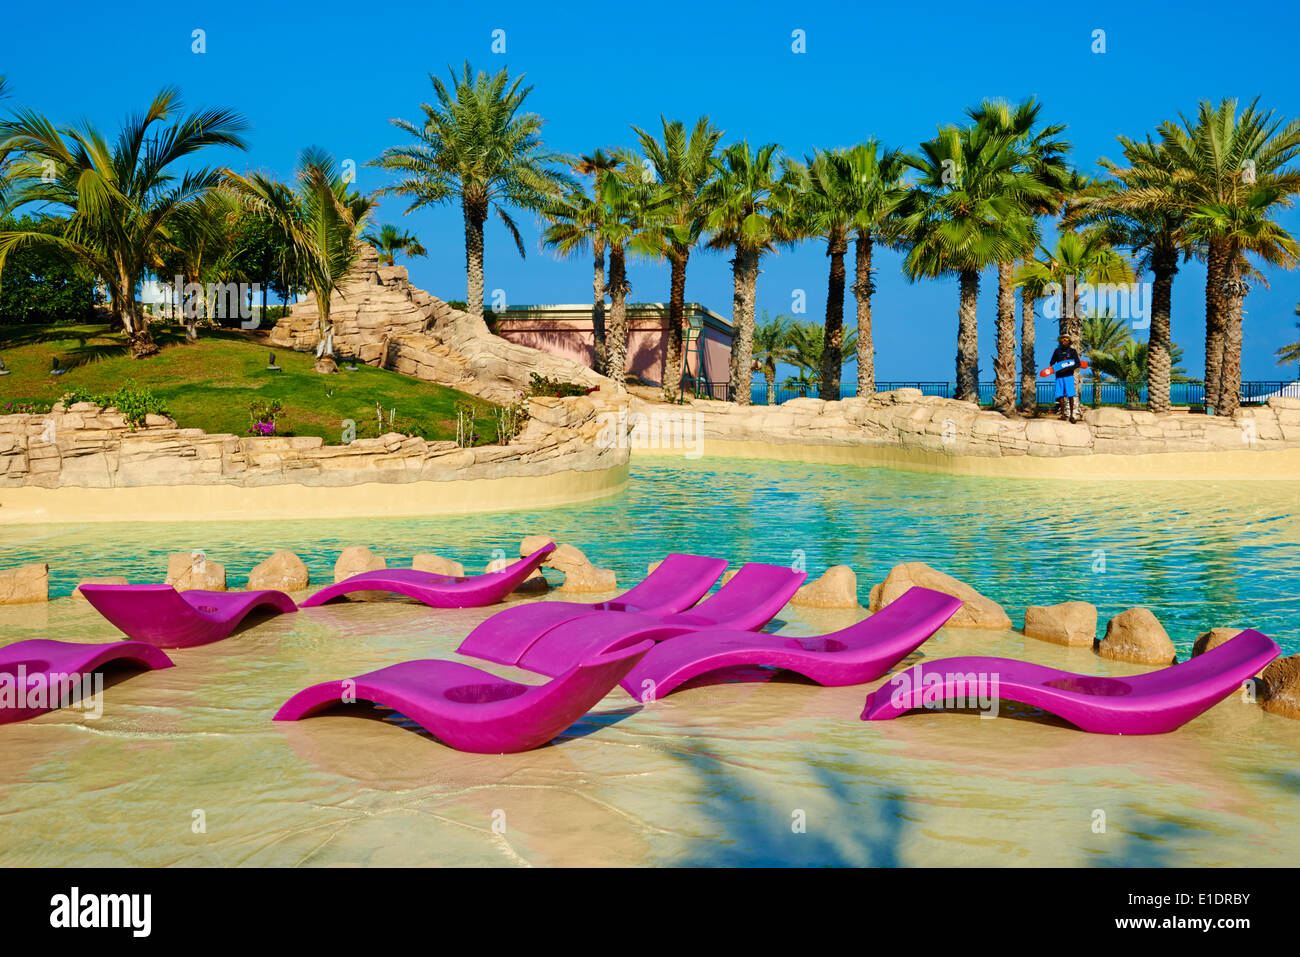
[[[164,85],[191,107],[222,105],[252,124],[247,153],[213,155],[237,169],[292,173],[309,144],[359,166],[358,185],[385,183],[363,164],[402,142],[390,117],[416,118],[432,99],[428,73],[469,60],[474,69],[508,68],[534,86],[528,105],[546,118],[547,144],[562,152],[632,144],[630,125],[655,127],[659,114],[686,122],[707,113],[724,142],[777,142],[793,155],[876,137],[914,148],[939,124],[959,121],[983,98],[1036,96],[1044,118],[1069,125],[1072,160],[1097,172],[1117,157],[1114,137],[1140,137],[1164,120],[1192,114],[1197,100],[1260,96],[1286,117],[1300,116],[1294,38],[1300,8],[1252,4],[1226,16],[1222,4],[1095,3],[1045,8],[1004,3],[803,4],[679,3],[552,5],[536,3],[265,3],[179,5],[81,3],[58,8],[12,4],[0,38],[0,73],[14,100],[57,121],[90,118],[114,127]],[[994,12],[996,10],[996,16]],[[1228,12],[1230,13],[1230,12]],[[194,53],[192,31],[207,52]],[[493,53],[503,30],[506,52]],[[805,31],[806,52],[792,51]],[[1093,31],[1105,31],[1093,53]],[[445,299],[464,298],[464,252],[456,208],[403,217],[386,199],[378,221],[413,230],[429,248],[410,263],[413,281]],[[586,256],[558,260],[540,247],[524,216],[528,256],[504,229],[488,226],[488,289],[514,303],[586,302]],[[1300,215],[1282,221],[1300,233]],[[881,380],[950,380],[956,351],[957,282],[906,282],[898,256],[878,252],[874,300],[876,371]],[[758,306],[789,312],[805,290],[807,317],[824,315],[824,246],[809,242],[768,257]],[[1296,338],[1300,272],[1269,270],[1270,289],[1247,299],[1247,378],[1294,377],[1274,350]],[[667,269],[633,263],[634,300],[663,300]],[[1174,283],[1174,339],[1186,365],[1204,361],[1204,268],[1188,263]],[[996,280],[980,290],[982,378],[992,378]],[[699,252],[686,295],[729,315],[731,268]],[[853,316],[852,295],[846,316]],[[1140,333],[1139,335],[1143,335]],[[1041,359],[1045,360],[1045,354]]]

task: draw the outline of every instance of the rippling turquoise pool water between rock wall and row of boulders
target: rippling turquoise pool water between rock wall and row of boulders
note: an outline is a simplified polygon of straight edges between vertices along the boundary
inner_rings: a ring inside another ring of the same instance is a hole
[[[250,490],[250,495],[257,492]],[[400,486],[391,494],[400,495]],[[48,562],[52,593],[82,577],[161,580],[170,551],[203,549],[231,588],[291,549],[329,581],[341,549],[369,545],[390,566],[434,551],[478,570],[549,533],[618,572],[620,585],[666,551],[858,573],[859,596],[898,562],[970,583],[1020,624],[1026,605],[1083,599],[1102,623],[1150,607],[1180,655],[1216,625],[1264,631],[1300,651],[1300,481],[1079,482],[982,480],[748,460],[637,459],[625,494],[563,508],[433,518],[194,524],[90,524],[3,531],[0,564]]]

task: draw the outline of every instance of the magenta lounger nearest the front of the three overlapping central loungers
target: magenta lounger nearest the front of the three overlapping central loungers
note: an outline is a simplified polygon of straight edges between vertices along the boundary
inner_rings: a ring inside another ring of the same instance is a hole
[[[961,607],[959,598],[913,586],[870,618],[819,637],[692,632],[650,649],[621,685],[632,697],[650,701],[699,675],[754,666],[794,671],[820,685],[863,684],[915,651]]]

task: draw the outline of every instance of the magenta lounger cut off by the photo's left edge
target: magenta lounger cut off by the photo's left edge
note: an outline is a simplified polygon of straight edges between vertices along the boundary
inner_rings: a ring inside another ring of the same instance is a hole
[[[146,670],[172,667],[170,658],[143,641],[83,645],[30,638],[0,648],[0,724],[62,707],[78,689],[84,689],[87,676],[113,662]]]

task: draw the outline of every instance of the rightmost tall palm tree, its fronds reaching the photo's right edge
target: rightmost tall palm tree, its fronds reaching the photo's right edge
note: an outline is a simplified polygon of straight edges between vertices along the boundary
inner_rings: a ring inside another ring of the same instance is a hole
[[[1300,155],[1300,121],[1283,124],[1252,100],[1238,116],[1236,100],[1202,100],[1196,122],[1160,126],[1164,148],[1184,189],[1179,191],[1200,242],[1205,274],[1205,408],[1236,410],[1242,374],[1242,300],[1249,286],[1244,255],[1290,268],[1295,242],[1269,220],[1290,205],[1300,173],[1287,166]]]

